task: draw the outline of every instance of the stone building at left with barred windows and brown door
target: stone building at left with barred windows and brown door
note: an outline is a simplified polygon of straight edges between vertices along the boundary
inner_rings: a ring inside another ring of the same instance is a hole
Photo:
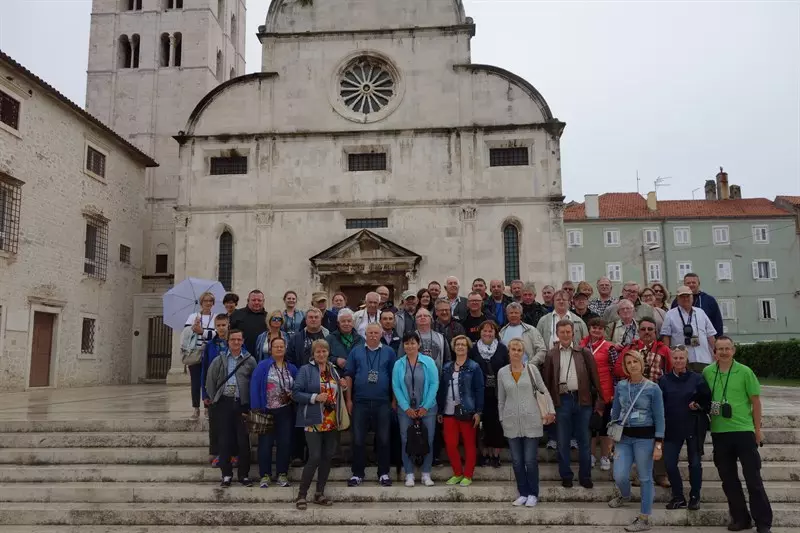
[[[129,382],[156,166],[0,52],[0,389]]]

